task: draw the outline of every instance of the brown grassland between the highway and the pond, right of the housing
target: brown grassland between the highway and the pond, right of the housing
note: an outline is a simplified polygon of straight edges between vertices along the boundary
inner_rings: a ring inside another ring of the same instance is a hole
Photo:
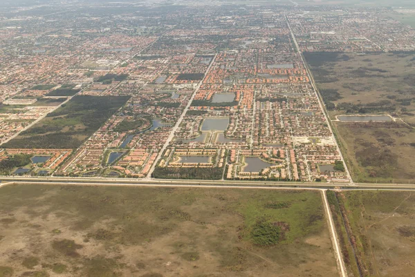
[[[395,122],[333,123],[354,181],[415,184],[415,129]]]

